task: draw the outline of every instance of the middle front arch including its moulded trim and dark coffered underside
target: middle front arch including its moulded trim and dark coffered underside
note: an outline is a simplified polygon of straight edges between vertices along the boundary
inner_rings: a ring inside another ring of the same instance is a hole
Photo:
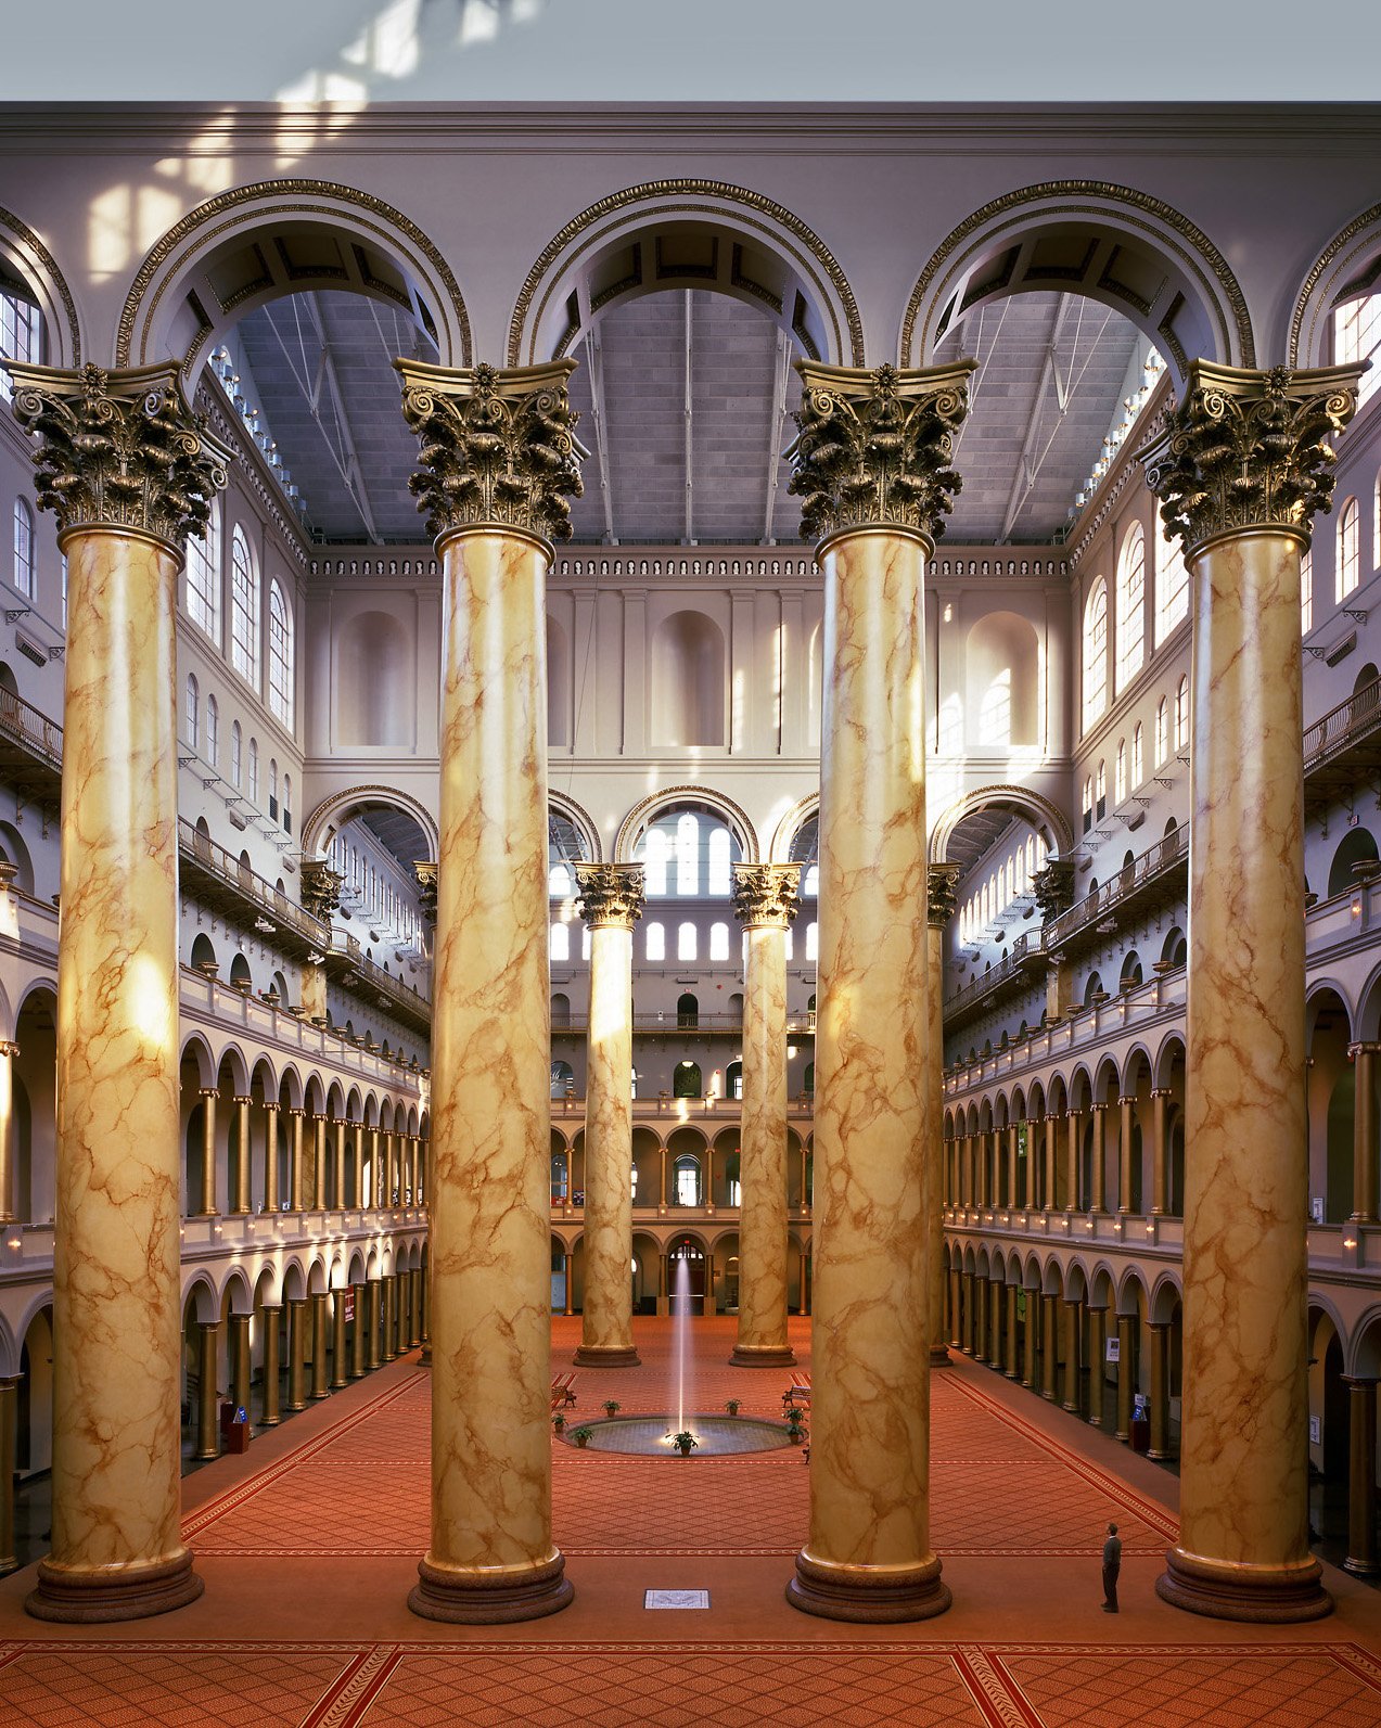
[[[835,256],[785,206],[721,180],[652,180],[612,192],[543,249],[513,308],[510,366],[569,354],[615,301],[710,289],[757,306],[807,354],[862,365],[862,320]]]

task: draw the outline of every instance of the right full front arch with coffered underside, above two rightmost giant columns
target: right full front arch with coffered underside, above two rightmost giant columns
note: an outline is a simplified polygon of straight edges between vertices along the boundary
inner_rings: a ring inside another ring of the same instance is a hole
[[[966,216],[916,278],[901,365],[928,366],[966,311],[1009,294],[1084,294],[1130,318],[1182,385],[1193,359],[1255,366],[1227,259],[1170,204],[1101,180],[1049,180]]]

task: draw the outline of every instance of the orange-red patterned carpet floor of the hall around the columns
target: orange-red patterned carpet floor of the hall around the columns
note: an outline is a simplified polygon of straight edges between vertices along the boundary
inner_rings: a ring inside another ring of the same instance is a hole
[[[553,1320],[553,1372],[579,1318]],[[641,1367],[581,1369],[662,1414],[671,1322],[638,1320]],[[735,1320],[693,1322],[688,1410],[780,1419],[790,1372],[728,1363]],[[792,1320],[809,1369],[809,1320]],[[1381,1725],[1381,1595],[1326,1567],[1336,1609],[1308,1626],[1198,1619],[1155,1595],[1175,1477],[963,1356],[932,1381],[932,1531],[954,1593],[914,1626],[845,1626],[788,1607],[807,1528],[799,1448],[636,1458],[553,1439],[553,1529],[576,1600],[505,1628],[417,1619],[429,1536],[429,1388],[417,1351],[187,1477],[206,1593],[90,1630],[29,1619],[26,1569],[0,1581],[0,1723],[283,1728],[394,1725]],[[1099,1548],[1120,1526],[1122,1612],[1101,1612]],[[709,1609],[645,1609],[707,1590]]]

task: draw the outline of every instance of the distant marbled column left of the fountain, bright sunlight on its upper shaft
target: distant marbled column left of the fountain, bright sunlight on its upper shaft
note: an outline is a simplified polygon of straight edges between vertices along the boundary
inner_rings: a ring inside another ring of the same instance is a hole
[[[584,1308],[579,1367],[633,1369],[633,926],[641,864],[577,864],[589,930],[584,1087]],[[740,1249],[741,1256],[741,1249]]]

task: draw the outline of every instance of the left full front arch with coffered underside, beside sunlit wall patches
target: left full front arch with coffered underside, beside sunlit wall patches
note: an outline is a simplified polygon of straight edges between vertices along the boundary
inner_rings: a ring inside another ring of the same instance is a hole
[[[436,337],[439,365],[472,365],[470,314],[437,247],[382,199],[318,180],[235,187],[169,228],[130,287],[116,365],[181,354],[190,385],[245,313],[308,289],[401,308]]]

